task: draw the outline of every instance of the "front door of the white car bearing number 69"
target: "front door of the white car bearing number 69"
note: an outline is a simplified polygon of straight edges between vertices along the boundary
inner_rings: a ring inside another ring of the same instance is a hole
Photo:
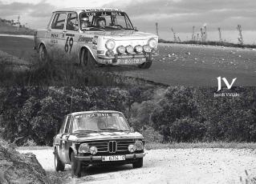
[[[78,53],[78,38],[79,38],[79,23],[76,12],[67,13],[66,30],[64,34],[65,46],[64,50],[68,55],[77,55]]]

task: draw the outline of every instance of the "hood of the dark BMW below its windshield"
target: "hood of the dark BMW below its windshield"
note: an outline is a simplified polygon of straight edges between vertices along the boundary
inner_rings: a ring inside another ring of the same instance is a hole
[[[87,134],[72,134],[68,140],[75,142],[106,140],[106,139],[125,139],[125,138],[143,138],[138,132],[99,132],[99,133],[87,133]]]

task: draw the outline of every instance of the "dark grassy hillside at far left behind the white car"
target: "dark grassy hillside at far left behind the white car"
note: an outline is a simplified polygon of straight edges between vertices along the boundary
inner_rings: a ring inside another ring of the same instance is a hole
[[[30,30],[26,26],[13,26],[11,21],[0,18],[0,34],[26,34],[33,35],[34,30]]]

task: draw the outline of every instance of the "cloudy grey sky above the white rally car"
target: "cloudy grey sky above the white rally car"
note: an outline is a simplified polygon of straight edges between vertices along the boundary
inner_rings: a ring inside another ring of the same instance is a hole
[[[207,25],[208,39],[238,42],[238,24],[246,43],[256,44],[255,0],[0,0],[0,18],[20,15],[22,24],[34,29],[45,28],[51,12],[63,7],[113,7],[124,10],[138,30],[156,33],[173,40],[171,28],[181,40],[188,40],[195,26],[196,34]]]

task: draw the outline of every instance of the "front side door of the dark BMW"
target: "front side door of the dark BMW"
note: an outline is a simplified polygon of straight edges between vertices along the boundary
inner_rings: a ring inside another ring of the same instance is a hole
[[[64,163],[67,163],[69,161],[68,151],[69,151],[70,142],[68,141],[68,138],[70,136],[71,119],[72,119],[71,115],[68,115],[66,126],[64,128],[64,132],[62,136],[61,160]]]

